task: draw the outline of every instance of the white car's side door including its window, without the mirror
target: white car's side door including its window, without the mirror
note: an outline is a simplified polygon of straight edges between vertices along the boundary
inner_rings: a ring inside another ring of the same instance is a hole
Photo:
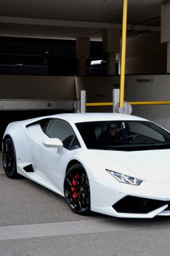
[[[45,147],[43,143],[39,145],[41,171],[59,190],[63,191],[63,180],[68,159],[72,150],[80,147],[80,143],[73,128],[63,119],[49,120],[43,130],[48,137],[57,138],[63,142],[63,147],[60,149]]]

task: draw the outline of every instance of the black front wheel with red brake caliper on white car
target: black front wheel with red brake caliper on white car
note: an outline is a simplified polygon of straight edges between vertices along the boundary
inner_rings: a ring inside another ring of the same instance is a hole
[[[65,199],[76,214],[90,214],[90,185],[88,175],[81,164],[73,165],[65,175]]]

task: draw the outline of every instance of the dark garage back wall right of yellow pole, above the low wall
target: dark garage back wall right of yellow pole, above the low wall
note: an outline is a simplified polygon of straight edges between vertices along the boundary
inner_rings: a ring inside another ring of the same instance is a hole
[[[149,33],[126,41],[126,74],[167,72],[167,44],[160,43],[160,33]]]

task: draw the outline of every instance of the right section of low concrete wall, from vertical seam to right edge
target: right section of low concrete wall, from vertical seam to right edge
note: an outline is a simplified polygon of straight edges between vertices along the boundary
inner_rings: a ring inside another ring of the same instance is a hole
[[[137,81],[150,79],[152,82]],[[76,76],[77,96],[80,90],[86,90],[87,102],[112,102],[112,89],[120,85],[120,76]],[[124,100],[134,101],[170,101],[170,74],[165,75],[126,75]],[[170,118],[170,105],[132,106],[132,115],[156,120]],[[87,112],[111,112],[112,106],[88,106]]]

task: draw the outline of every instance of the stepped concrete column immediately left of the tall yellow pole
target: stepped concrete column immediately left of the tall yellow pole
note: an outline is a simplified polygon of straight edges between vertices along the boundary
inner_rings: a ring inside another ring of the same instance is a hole
[[[107,53],[107,74],[116,74],[116,53],[120,53],[120,29],[103,29],[103,51]]]

